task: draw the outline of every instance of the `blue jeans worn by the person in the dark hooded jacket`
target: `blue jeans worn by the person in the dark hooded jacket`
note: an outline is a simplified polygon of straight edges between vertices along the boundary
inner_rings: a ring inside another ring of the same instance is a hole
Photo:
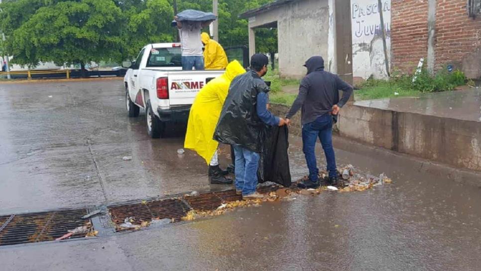
[[[327,170],[329,177],[337,176],[336,156],[332,146],[332,116],[330,114],[317,118],[314,122],[302,126],[302,151],[306,156],[309,178],[312,181],[319,180],[319,169],[316,161],[316,141],[321,140],[324,154],[326,155]]]

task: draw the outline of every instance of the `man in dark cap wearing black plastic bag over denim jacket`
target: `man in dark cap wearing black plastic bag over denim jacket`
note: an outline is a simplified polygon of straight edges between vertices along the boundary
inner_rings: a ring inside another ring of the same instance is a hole
[[[255,188],[266,125],[286,124],[267,109],[270,89],[261,77],[266,74],[268,63],[265,55],[254,54],[250,71],[234,78],[214,133],[214,139],[234,148],[236,192],[244,199],[263,197]]]

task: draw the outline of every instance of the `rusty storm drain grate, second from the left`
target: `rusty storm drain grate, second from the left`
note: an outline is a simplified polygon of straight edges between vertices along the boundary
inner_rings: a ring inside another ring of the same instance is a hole
[[[123,223],[127,217],[133,219],[133,224],[140,224],[143,221],[164,218],[180,221],[189,210],[190,207],[178,198],[109,207],[112,222],[116,224]]]

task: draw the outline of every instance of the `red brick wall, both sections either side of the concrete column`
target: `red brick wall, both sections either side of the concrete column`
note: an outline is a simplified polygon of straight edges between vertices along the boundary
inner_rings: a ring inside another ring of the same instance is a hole
[[[435,70],[448,64],[481,76],[481,17],[468,16],[467,0],[437,0]],[[412,73],[427,57],[428,0],[391,0],[392,70]]]

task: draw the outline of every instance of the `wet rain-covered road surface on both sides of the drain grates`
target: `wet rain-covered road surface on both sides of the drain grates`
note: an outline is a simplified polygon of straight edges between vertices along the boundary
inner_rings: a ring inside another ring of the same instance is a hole
[[[0,85],[0,127],[0,214],[223,188],[208,185],[202,159],[177,155],[176,133],[152,140],[143,115],[126,117],[121,81]],[[480,270],[479,175],[335,144],[344,149],[340,164],[394,183],[159,229],[1,247],[1,270]],[[289,151],[300,177],[299,138]]]

